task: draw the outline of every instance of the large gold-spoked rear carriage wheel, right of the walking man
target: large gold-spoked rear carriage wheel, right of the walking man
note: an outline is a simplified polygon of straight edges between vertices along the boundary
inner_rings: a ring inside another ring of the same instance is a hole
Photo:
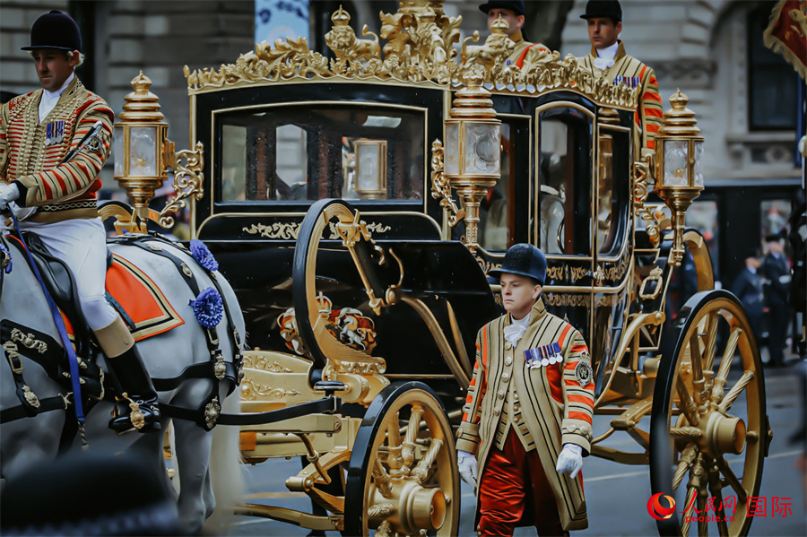
[[[697,526],[699,535],[744,535],[769,443],[751,325],[731,293],[712,290],[687,301],[675,330],[650,423],[651,489],[674,500],[672,508],[670,498],[655,497],[659,533],[686,536]]]

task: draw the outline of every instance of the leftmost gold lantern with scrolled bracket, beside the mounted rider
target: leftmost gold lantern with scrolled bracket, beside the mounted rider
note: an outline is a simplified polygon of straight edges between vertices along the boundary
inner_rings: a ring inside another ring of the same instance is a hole
[[[121,221],[116,228],[135,233],[146,233],[151,218],[162,227],[174,224],[170,212],[186,206],[187,198],[201,200],[204,195],[203,146],[196,143],[194,150],[174,151],[174,143],[167,136],[168,124],[163,121],[160,100],[150,88],[152,81],[140,72],[132,80],[134,91],[126,95],[123,111],[117,115],[113,136],[115,155],[114,178],[126,190],[134,203],[131,221]],[[150,212],[149,202],[154,192],[173,170],[173,186],[177,195],[161,212]]]

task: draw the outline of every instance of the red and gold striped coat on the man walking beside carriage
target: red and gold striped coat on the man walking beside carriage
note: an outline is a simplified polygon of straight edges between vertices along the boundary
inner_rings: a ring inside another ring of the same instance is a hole
[[[586,342],[572,325],[548,313],[543,299],[535,302],[530,323],[515,349],[504,338],[508,325],[509,314],[479,331],[476,364],[463,421],[457,431],[456,448],[476,455],[478,475],[484,479],[485,462],[506,412],[506,394],[513,390],[520,402],[517,419],[523,420],[529,433],[527,450],[538,451],[558,503],[563,529],[586,529],[582,472],[572,479],[555,470],[563,444],[581,446],[584,455],[591,449],[594,383],[581,385],[576,374],[577,366],[586,368],[586,360],[590,360]],[[563,360],[555,365],[529,368],[525,351],[553,342],[559,343]],[[590,361],[588,366],[590,371]]]

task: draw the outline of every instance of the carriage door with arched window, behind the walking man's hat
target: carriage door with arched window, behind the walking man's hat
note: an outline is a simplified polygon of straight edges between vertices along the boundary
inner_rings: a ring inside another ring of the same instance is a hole
[[[547,258],[543,299],[591,342],[594,114],[566,101],[539,106],[535,114],[538,177],[530,231]]]

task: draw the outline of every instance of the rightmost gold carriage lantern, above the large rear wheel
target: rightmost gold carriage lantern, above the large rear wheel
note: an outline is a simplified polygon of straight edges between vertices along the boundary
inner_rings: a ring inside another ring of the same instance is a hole
[[[670,262],[674,266],[681,264],[684,254],[687,209],[703,190],[703,137],[699,135],[695,113],[687,108],[688,102],[681,90],[672,95],[672,109],[664,112],[655,136],[655,190],[672,211]]]

